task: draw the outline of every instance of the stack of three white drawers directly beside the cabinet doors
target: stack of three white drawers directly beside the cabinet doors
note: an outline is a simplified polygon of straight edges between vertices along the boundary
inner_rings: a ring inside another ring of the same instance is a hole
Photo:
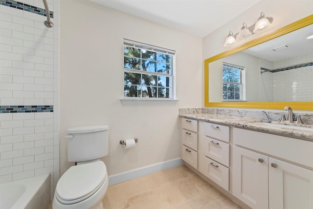
[[[229,127],[204,122],[202,173],[229,190]]]

